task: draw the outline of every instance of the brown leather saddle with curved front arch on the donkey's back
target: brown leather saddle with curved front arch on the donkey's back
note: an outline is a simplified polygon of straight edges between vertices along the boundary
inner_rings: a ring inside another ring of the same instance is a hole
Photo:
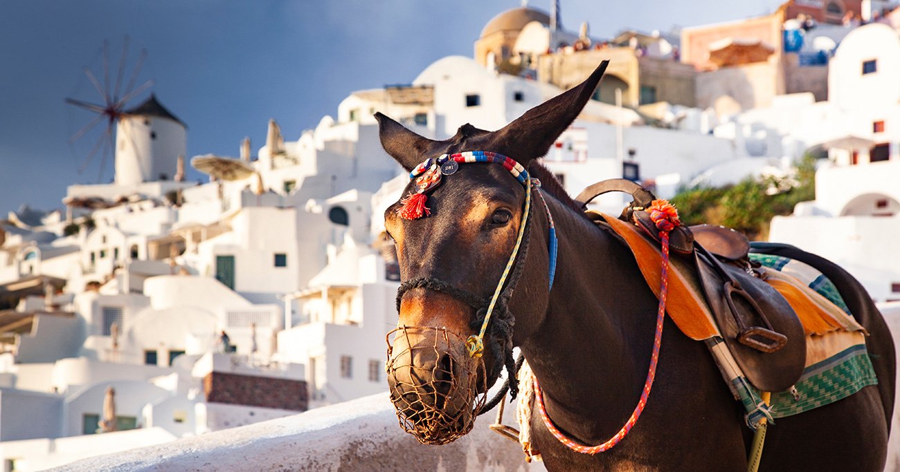
[[[645,210],[653,192],[626,179],[590,185],[575,198],[582,209],[599,195],[624,191],[634,200],[619,217],[660,241],[659,230]],[[703,287],[719,331],[744,375],[763,391],[792,387],[806,365],[806,334],[794,309],[778,291],[760,279],[747,257],[746,236],[726,227],[676,227],[670,249],[689,262]]]

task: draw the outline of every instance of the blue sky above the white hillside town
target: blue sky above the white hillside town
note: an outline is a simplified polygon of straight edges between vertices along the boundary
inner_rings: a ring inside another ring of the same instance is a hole
[[[109,40],[118,64],[148,58],[139,82],[188,125],[188,157],[254,153],[275,118],[296,139],[334,115],[350,92],[410,83],[428,64],[472,56],[485,23],[518,0],[5,0],[0,4],[0,218],[28,203],[60,208],[66,186],[96,183],[99,159],[78,174],[90,145],[68,138],[92,116],[64,102],[97,101],[84,67],[102,74]],[[549,11],[551,0],[529,5]],[[770,13],[777,0],[601,2],[563,0],[563,26],[594,37],[668,31]],[[127,67],[130,69],[130,67]],[[115,76],[113,68],[112,76]],[[148,94],[130,102],[136,104]],[[192,172],[196,179],[200,174]],[[103,182],[112,179],[107,162]]]

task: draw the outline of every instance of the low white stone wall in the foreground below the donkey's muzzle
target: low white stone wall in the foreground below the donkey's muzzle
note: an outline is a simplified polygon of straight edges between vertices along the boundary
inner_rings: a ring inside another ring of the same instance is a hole
[[[493,416],[483,415],[462,439],[423,446],[402,432],[387,394],[380,394],[56,470],[545,470],[527,464],[518,444],[488,429]]]

